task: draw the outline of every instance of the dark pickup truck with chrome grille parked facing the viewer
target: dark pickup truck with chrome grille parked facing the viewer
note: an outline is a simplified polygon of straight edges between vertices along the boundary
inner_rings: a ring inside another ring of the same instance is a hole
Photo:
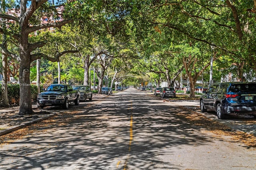
[[[47,89],[38,94],[37,106],[43,109],[46,105],[62,105],[64,109],[69,108],[69,103],[74,102],[79,105],[80,93],[73,90],[68,84],[52,84]]]

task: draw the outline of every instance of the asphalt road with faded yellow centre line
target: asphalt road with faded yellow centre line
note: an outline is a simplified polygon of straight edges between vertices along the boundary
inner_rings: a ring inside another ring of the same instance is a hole
[[[3,145],[0,169],[256,169],[255,148],[179,119],[174,102],[130,88],[80,104],[68,125]]]

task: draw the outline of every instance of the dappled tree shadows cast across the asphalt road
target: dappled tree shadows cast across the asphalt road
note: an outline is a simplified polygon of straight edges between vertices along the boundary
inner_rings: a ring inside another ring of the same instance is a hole
[[[189,111],[151,101],[144,95],[116,94],[101,103],[64,111],[66,117],[38,127],[24,140],[1,150],[1,167],[10,169],[184,169],[174,161],[175,147],[195,149],[218,136],[186,120]],[[68,123],[60,123],[65,119]],[[228,130],[228,129],[226,129]],[[14,161],[15,163],[11,163]]]

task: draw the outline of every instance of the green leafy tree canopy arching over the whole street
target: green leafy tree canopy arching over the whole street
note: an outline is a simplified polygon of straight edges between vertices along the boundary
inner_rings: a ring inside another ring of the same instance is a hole
[[[255,81],[255,0],[0,3],[1,73],[17,74],[19,63],[20,93],[28,94],[21,95],[21,114],[32,113],[27,85],[36,59],[42,59],[42,75],[54,79],[60,61],[62,79],[84,85],[94,67],[100,87],[106,75],[130,85],[151,77],[156,86],[160,81],[179,86],[182,73],[193,91],[202,74],[209,81],[211,57],[216,81]],[[14,63],[8,69],[6,59]],[[226,78],[230,73],[234,79]]]

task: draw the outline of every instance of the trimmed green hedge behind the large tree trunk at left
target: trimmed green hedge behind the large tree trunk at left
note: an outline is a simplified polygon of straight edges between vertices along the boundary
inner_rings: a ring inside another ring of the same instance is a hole
[[[37,86],[30,85],[31,87],[31,100],[32,102],[36,102],[37,100]],[[2,85],[0,84],[0,95],[2,93]],[[42,92],[43,85],[40,85],[40,91]],[[8,91],[8,103],[9,105],[19,105],[20,103],[20,85],[19,84],[7,84]],[[2,95],[0,98],[0,102],[2,103]]]

